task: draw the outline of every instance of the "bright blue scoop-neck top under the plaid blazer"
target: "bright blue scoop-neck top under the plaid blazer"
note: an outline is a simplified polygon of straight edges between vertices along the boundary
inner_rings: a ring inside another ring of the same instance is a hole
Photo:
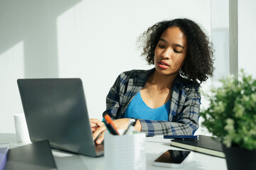
[[[144,103],[140,92],[134,96],[127,107],[124,118],[138,118],[144,120],[164,120],[168,121],[171,100],[159,108],[149,108]]]

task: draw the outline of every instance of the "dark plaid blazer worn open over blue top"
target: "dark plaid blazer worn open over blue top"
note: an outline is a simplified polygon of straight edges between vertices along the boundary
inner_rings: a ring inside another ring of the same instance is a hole
[[[142,89],[155,69],[132,70],[117,77],[107,95],[107,109],[112,119],[124,118],[124,112],[134,96]],[[193,135],[198,129],[201,95],[199,84],[176,77],[171,92],[169,121],[143,120],[142,132],[146,135]]]

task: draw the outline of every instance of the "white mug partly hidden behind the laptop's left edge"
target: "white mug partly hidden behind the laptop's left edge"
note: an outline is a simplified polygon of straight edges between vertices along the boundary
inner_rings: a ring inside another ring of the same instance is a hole
[[[28,127],[26,125],[26,118],[23,113],[14,115],[14,124],[18,142],[30,142]]]

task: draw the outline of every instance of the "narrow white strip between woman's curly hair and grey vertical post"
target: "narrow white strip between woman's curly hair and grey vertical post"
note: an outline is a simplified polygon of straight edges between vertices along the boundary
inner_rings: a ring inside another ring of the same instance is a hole
[[[212,86],[219,86],[218,80],[229,74],[229,37],[228,37],[228,0],[211,1],[211,41],[213,42],[214,67],[213,77],[203,83],[201,91],[210,91]],[[201,110],[208,108],[209,101],[201,96]],[[196,135],[211,135],[201,126],[203,118],[199,119],[199,129]]]

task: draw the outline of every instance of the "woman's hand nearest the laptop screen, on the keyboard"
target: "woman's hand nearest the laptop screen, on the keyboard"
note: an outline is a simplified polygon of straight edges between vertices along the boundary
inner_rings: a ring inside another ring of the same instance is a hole
[[[104,131],[107,130],[107,128],[105,127],[105,124],[98,119],[92,118],[90,119],[90,126],[92,129],[93,140],[95,140],[97,136],[100,135],[100,137],[95,141],[97,144],[100,144],[104,139]]]

